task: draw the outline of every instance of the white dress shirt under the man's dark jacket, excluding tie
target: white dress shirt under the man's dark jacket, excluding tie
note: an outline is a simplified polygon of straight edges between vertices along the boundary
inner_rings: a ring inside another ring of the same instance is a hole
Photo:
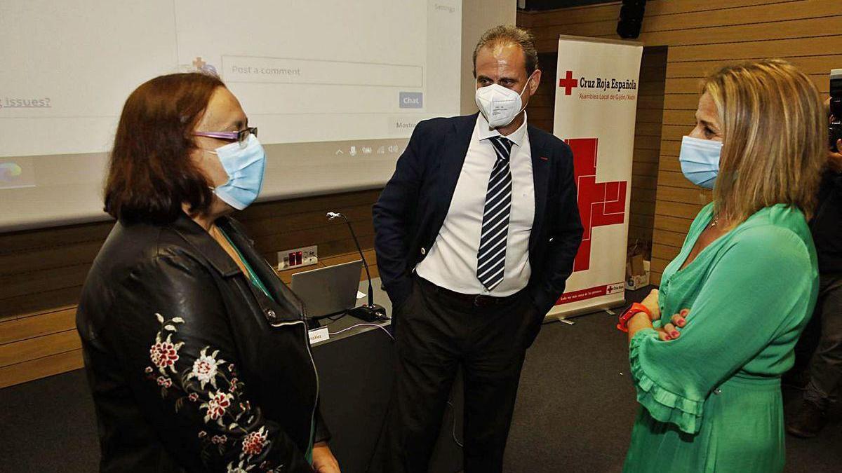
[[[482,233],[482,213],[488,178],[497,154],[488,138],[499,136],[488,128],[488,120],[477,115],[471,144],[465,155],[450,209],[427,258],[418,263],[415,273],[448,290],[462,294],[504,297],[522,290],[529,282],[529,237],[535,219],[535,183],[532,180],[532,155],[524,123],[506,136],[514,145],[509,157],[512,173],[512,207],[506,237],[506,265],[503,281],[488,290],[477,279],[477,252]]]

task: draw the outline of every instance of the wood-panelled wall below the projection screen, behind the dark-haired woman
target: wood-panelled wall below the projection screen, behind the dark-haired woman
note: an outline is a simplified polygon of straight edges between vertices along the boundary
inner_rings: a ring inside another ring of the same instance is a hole
[[[318,245],[323,267],[356,258],[346,215],[377,276],[371,205],[379,189],[253,205],[238,212],[270,263],[277,252]],[[76,304],[93,258],[113,222],[0,234],[0,388],[82,367]],[[301,268],[301,270],[314,267]],[[286,283],[295,271],[280,274]],[[362,274],[360,275],[362,277]]]

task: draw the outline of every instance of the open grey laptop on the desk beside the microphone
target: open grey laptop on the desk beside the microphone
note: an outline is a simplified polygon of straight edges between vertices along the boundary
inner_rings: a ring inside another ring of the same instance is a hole
[[[323,317],[353,309],[360,288],[361,260],[292,275],[290,287],[304,302],[307,316]]]

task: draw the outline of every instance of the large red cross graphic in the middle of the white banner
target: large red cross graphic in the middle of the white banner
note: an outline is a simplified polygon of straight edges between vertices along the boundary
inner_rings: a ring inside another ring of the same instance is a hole
[[[584,234],[573,263],[573,271],[590,268],[590,242],[595,226],[626,221],[627,181],[596,182],[596,138],[565,140],[573,149],[573,175],[578,189],[578,208]]]

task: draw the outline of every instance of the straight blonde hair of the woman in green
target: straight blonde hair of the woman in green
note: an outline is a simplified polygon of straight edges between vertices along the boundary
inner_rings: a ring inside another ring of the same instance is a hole
[[[702,82],[722,126],[717,215],[738,224],[775,204],[811,215],[827,154],[818,89],[787,61],[724,66]]]

